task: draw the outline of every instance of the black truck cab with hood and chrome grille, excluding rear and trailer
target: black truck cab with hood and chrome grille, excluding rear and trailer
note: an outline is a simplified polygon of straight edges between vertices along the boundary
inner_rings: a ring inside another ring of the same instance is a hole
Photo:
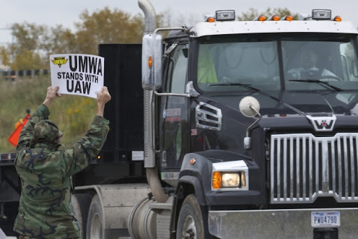
[[[152,145],[161,180],[176,188],[171,231],[352,237],[357,27],[330,10],[313,10],[310,20],[234,15],[217,11],[175,29],[164,50],[162,29],[143,38],[143,88],[156,106]]]

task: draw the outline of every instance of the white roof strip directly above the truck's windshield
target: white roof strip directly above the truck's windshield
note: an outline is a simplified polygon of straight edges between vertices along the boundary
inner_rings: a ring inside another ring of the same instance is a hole
[[[224,34],[255,34],[279,32],[317,32],[358,34],[352,22],[334,21],[250,21],[250,22],[199,22],[190,31],[193,37]]]

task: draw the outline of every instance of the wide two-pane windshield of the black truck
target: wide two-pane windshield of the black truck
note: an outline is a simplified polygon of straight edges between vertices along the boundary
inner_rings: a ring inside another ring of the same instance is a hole
[[[197,56],[204,92],[358,90],[355,35],[206,36]]]

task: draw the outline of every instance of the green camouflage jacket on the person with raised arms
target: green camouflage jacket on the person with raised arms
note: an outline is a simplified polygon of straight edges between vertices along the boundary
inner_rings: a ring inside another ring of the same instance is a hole
[[[79,238],[78,222],[71,213],[71,176],[97,156],[109,122],[96,115],[85,136],[68,150],[45,143],[30,147],[34,125],[48,115],[50,111],[42,104],[20,133],[15,167],[22,193],[14,231],[29,238]]]

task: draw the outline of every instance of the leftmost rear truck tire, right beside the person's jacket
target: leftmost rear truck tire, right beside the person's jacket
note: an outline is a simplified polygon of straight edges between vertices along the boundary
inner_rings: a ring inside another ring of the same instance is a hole
[[[81,238],[86,238],[88,209],[90,208],[91,194],[72,194],[71,210],[80,224]]]

